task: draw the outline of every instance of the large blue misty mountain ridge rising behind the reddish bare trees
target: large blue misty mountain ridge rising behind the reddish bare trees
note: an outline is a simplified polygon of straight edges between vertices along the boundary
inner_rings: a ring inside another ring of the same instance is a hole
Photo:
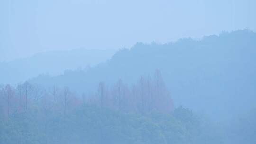
[[[176,106],[183,105],[225,120],[254,107],[256,100],[256,33],[223,32],[201,40],[180,39],[168,44],[137,43],[86,71],[30,80],[43,86],[69,86],[90,92],[103,81],[121,78],[132,83],[158,69]]]

